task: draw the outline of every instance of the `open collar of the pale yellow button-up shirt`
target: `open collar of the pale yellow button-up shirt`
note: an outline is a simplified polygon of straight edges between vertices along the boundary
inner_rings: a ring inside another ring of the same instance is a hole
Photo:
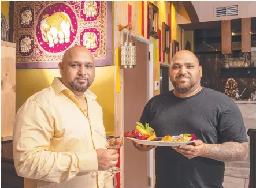
[[[56,95],[58,95],[62,91],[69,91],[69,93],[71,93],[72,96],[75,96],[74,93],[61,82],[61,78],[59,77],[54,77],[51,87],[53,87]],[[87,89],[86,92],[84,92],[84,96],[92,100],[96,100],[97,98],[97,96],[89,89]]]

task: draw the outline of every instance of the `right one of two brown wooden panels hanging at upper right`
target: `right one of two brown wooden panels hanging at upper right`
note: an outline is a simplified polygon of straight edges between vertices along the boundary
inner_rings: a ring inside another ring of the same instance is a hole
[[[241,20],[242,53],[251,52],[251,18]]]

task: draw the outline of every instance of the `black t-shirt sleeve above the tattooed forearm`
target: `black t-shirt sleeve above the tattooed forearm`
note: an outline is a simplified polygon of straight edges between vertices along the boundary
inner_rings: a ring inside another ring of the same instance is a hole
[[[229,101],[221,112],[218,120],[218,134],[220,143],[248,142],[243,116],[236,103]]]

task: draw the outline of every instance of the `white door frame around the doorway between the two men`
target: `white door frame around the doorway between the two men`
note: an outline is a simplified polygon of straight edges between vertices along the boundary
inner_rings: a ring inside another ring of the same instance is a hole
[[[124,34],[127,34],[127,31],[121,31],[121,37],[124,37]],[[154,96],[154,52],[153,52],[153,41],[150,39],[146,39],[143,36],[140,36],[138,34],[132,33],[131,32],[132,37],[134,37],[136,40],[148,44],[149,45],[149,53],[150,53],[150,58],[149,58],[149,99],[151,99]],[[138,51],[138,49],[137,49]],[[122,118],[124,118],[124,114],[122,116]],[[124,121],[123,121],[124,122]],[[121,126],[121,133],[124,133],[124,124]],[[121,152],[124,153],[124,152]],[[150,183],[150,188],[154,188],[154,149],[151,149],[151,151],[148,152],[148,161],[149,161],[149,171],[148,171],[148,175],[149,175],[149,179],[151,182]],[[120,159],[124,159],[124,157],[121,156]],[[124,160],[121,160],[121,167],[124,167]],[[121,188],[124,188],[124,171],[123,168],[121,170]]]

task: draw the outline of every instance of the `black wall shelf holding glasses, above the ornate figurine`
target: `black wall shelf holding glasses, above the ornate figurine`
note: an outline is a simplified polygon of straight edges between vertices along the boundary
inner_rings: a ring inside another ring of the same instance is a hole
[[[256,78],[256,67],[221,69],[221,78]]]

